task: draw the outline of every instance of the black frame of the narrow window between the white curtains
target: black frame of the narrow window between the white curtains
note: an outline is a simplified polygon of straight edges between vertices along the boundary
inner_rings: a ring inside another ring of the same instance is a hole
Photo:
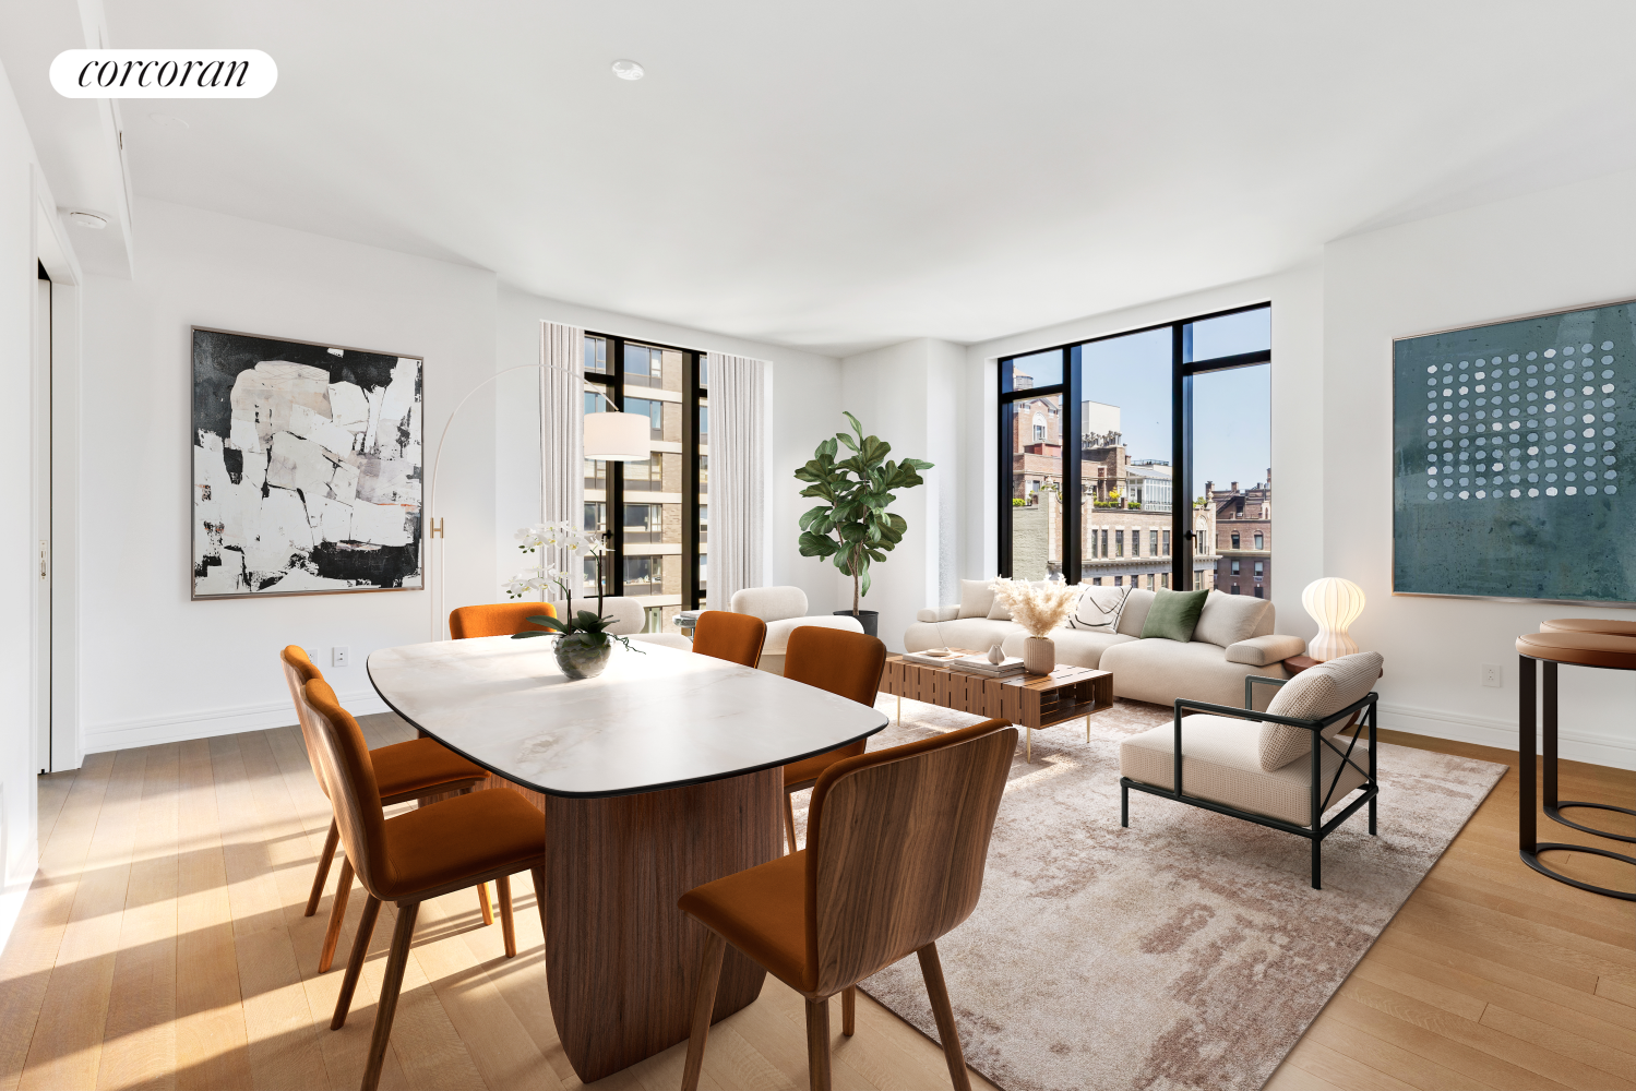
[[[582,361],[581,352],[581,375],[586,381],[586,389],[592,386],[600,388],[602,394],[614,404],[615,409],[625,412],[625,345],[640,345],[643,348],[658,348],[661,352],[677,352],[682,355],[682,610],[699,610],[703,605],[703,590],[699,586],[699,402],[708,397],[708,391],[699,383],[700,365],[707,353],[697,348],[682,348],[681,345],[666,345],[663,342],[648,340],[646,337],[623,337],[620,334],[604,334],[602,330],[587,329],[584,332],[587,339],[600,337],[605,345],[604,365],[605,371],[589,371]],[[646,386],[641,389],[664,389],[663,386]],[[631,394],[631,397],[641,399],[640,394]],[[656,399],[645,399],[656,401]],[[659,463],[659,474],[663,481],[664,463]],[[625,502],[630,499],[631,504],[656,504],[654,501],[645,501],[643,497],[627,497],[625,496],[625,463],[605,463],[607,474],[604,481],[607,483],[604,489],[604,523],[607,530],[604,532],[604,541],[607,543],[607,556],[604,558],[602,569],[597,574],[602,592],[607,595],[623,595],[625,594]],[[663,523],[663,517],[661,517]],[[651,554],[643,554],[651,556]],[[663,581],[661,581],[663,587]]]

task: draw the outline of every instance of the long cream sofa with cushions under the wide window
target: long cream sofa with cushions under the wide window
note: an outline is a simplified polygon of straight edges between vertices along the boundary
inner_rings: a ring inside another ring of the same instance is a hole
[[[983,651],[1000,644],[1008,656],[1022,654],[1022,626],[1009,620],[1005,608],[995,608],[993,592],[987,602],[982,581],[962,581],[960,605],[921,610],[916,623],[903,633],[905,651],[929,648],[970,648]],[[1243,707],[1243,679],[1250,674],[1284,679],[1283,661],[1306,651],[1299,636],[1273,633],[1273,604],[1263,599],[1227,595],[1219,590],[1206,599],[1204,612],[1194,638],[1188,643],[1173,640],[1142,640],[1142,623],[1153,605],[1157,592],[1130,589],[1119,625],[1114,631],[1094,631],[1063,626],[1050,638],[1057,644],[1057,662],[1062,666],[1111,671],[1114,697],[1170,705],[1178,697],[1206,700],[1217,705]],[[1261,604],[1258,618],[1248,615]],[[962,617],[964,615],[964,617]],[[1245,630],[1248,630],[1245,633]],[[1230,633],[1230,635],[1224,635]],[[1225,640],[1217,644],[1207,638]],[[1271,700],[1273,687],[1256,687],[1256,700]]]

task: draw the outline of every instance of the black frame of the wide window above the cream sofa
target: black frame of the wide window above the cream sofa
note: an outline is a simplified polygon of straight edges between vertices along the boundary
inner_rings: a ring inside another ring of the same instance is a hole
[[[1158,329],[1170,330],[1170,465],[1171,465],[1171,501],[1170,501],[1170,535],[1175,540],[1175,548],[1170,553],[1171,566],[1171,587],[1188,590],[1194,586],[1193,558],[1196,556],[1196,532],[1193,530],[1193,379],[1198,375],[1206,375],[1212,371],[1232,371],[1237,368],[1252,368],[1263,363],[1273,361],[1271,345],[1256,352],[1243,352],[1227,357],[1212,357],[1207,360],[1193,360],[1193,326],[1196,322],[1204,322],[1209,319],[1225,317],[1229,314],[1245,314],[1250,311],[1271,311],[1273,301],[1263,299],[1260,303],[1247,303],[1237,308],[1224,308],[1220,311],[1207,311],[1204,314],[1193,314],[1183,319],[1173,319],[1170,322],[1153,322],[1152,326],[1140,326],[1135,329],[1119,330],[1117,334],[1104,334],[1101,337],[1086,337],[1083,340],[1067,342],[1060,345],[1050,345],[1045,348],[1029,348],[1026,352],[1016,352],[1000,357],[995,388],[1000,396],[1000,412],[996,419],[996,427],[1000,432],[1000,489],[998,489],[998,505],[1000,505],[1000,551],[998,551],[998,571],[1000,576],[1011,576],[1011,510],[1013,510],[1013,442],[1016,429],[1008,425],[1011,422],[1011,407],[1019,401],[1027,401],[1031,397],[1050,397],[1058,396],[1062,399],[1062,574],[1070,584],[1078,584],[1083,577],[1083,543],[1080,541],[1081,532],[1081,512],[1080,512],[1080,406],[1083,404],[1083,381],[1080,376],[1081,368],[1073,366],[1073,350],[1083,345],[1094,345],[1104,340],[1117,340],[1121,337],[1130,337],[1134,334],[1148,334]],[[1006,389],[1006,370],[1016,360],[1027,357],[1040,357],[1049,352],[1062,353],[1062,381],[1052,383],[1049,386],[1031,386],[1027,389]],[[1072,442],[1070,442],[1072,438]],[[1206,497],[1206,502],[1209,497]],[[1207,545],[1207,543],[1206,543]],[[1207,551],[1206,551],[1207,554]]]

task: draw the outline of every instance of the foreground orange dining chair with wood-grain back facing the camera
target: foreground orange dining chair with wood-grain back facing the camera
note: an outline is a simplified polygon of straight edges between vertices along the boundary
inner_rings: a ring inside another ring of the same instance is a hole
[[[841,993],[851,1035],[857,983],[919,955],[949,1078],[970,1091],[937,939],[977,908],[1016,746],[1016,728],[988,720],[838,761],[813,788],[805,849],[682,895],[682,913],[710,929],[684,1091],[699,1086],[726,944],[807,999],[813,1091],[829,1091],[829,998]]]

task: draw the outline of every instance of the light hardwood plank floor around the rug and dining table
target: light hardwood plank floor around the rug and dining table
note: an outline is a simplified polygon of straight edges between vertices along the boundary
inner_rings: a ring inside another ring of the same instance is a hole
[[[365,728],[371,746],[407,738],[393,716]],[[1636,775],[1566,764],[1562,787],[1629,800]],[[329,810],[294,728],[95,754],[41,779],[39,816],[39,877],[0,957],[0,1086],[358,1084],[391,909],[353,1014],[330,1032],[340,970],[316,973],[329,900],[301,916]],[[1636,909],[1523,867],[1515,818],[1513,772],[1270,1088],[1636,1088]],[[1562,865],[1633,882],[1633,869],[1597,857]],[[514,960],[470,893],[422,908],[381,1086],[579,1083],[556,1044],[527,888]],[[676,1047],[597,1086],[674,1088],[681,1066]],[[769,978],[715,1027],[702,1086],[805,1083],[802,1001]],[[857,1035],[836,1035],[834,1086],[946,1088],[949,1076],[936,1045],[859,996]]]

